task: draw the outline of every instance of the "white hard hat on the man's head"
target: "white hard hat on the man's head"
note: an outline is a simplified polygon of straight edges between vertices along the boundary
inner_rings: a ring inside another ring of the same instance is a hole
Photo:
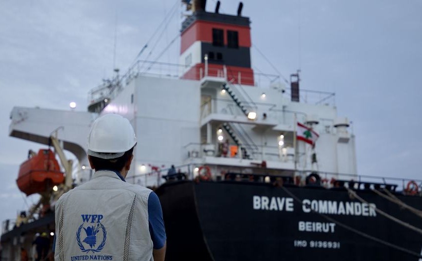
[[[88,136],[88,155],[116,159],[136,145],[135,131],[128,119],[106,114],[95,120]]]

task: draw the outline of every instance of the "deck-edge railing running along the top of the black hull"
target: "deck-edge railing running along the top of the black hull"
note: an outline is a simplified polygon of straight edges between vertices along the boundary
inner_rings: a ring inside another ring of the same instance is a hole
[[[194,144],[191,144],[190,146],[192,145]],[[147,171],[146,173],[129,176],[127,177],[127,181],[131,181],[133,184],[148,186],[147,181],[150,177],[156,181],[154,186],[160,186],[166,181],[194,180],[203,174],[199,173],[201,165],[202,164],[199,162],[178,165],[175,167],[177,170],[176,174],[172,175],[167,174],[170,167],[162,167],[158,170],[156,169],[154,171]],[[412,195],[422,196],[422,180],[420,179],[357,175],[315,170],[290,170],[286,173],[290,172],[291,174],[268,174],[265,173],[265,166],[261,165],[261,167],[263,169],[262,173],[246,173],[243,171],[244,168],[242,167],[238,167],[237,171],[235,170],[235,167],[232,167],[229,172],[222,171],[219,173],[212,173],[210,181],[259,182],[269,183],[273,186],[324,187],[325,189],[334,190],[344,190],[344,187],[352,188],[354,190],[387,189],[390,192],[402,192],[403,194],[409,194],[407,192],[407,184],[412,182],[418,185],[418,193]],[[211,169],[213,168],[211,167]],[[309,178],[312,175],[315,176],[315,174],[320,178],[319,183],[316,184],[315,182],[307,181],[306,178]],[[303,179],[301,179],[302,177]],[[140,180],[142,182],[139,182]],[[401,191],[397,190],[397,188],[401,188]]]

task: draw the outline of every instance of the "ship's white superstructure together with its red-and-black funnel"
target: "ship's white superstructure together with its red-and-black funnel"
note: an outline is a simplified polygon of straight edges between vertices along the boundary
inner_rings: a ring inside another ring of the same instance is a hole
[[[355,137],[334,94],[300,90],[298,74],[285,86],[280,76],[254,72],[249,24],[240,5],[237,16],[198,5],[182,23],[181,65],[138,61],[123,76],[116,70],[89,93],[88,112],[15,107],[9,134],[48,144],[58,130],[80,163],[77,183],[92,174],[87,135],[104,113],[133,125],[138,145],[128,181],[144,186],[160,185],[171,165],[190,177],[206,165],[216,179],[227,172],[356,175]],[[297,138],[298,124],[317,132],[315,146]]]

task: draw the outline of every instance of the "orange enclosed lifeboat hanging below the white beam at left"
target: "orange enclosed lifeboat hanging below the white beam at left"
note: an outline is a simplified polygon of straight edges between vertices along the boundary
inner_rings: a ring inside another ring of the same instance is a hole
[[[29,159],[21,164],[16,180],[19,189],[27,196],[45,192],[64,182],[64,174],[50,149],[41,149],[38,154],[30,151],[28,157]]]

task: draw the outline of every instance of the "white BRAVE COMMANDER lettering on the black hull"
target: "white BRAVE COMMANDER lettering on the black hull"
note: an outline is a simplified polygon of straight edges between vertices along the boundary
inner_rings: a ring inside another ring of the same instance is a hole
[[[287,211],[293,212],[294,204],[292,197],[278,196],[253,196],[254,210]],[[310,213],[315,211],[322,214],[352,215],[376,217],[376,205],[374,203],[360,203],[355,201],[334,201],[334,200],[302,200],[302,211]]]

